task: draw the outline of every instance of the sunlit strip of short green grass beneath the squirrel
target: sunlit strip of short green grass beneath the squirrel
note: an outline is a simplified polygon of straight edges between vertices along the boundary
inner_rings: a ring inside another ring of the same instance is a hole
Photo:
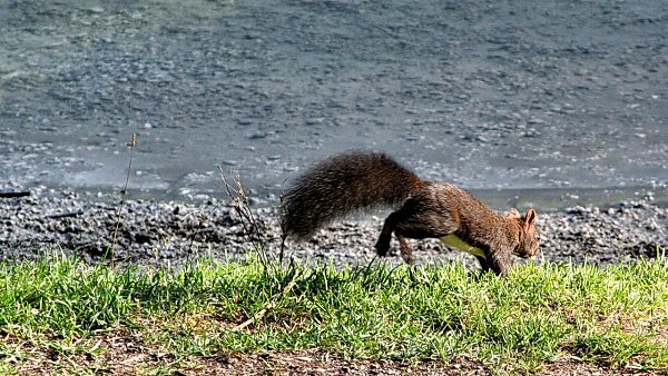
[[[320,348],[351,359],[465,355],[504,372],[533,372],[563,355],[665,370],[668,260],[527,264],[508,279],[459,264],[335,270],[200,261],[143,273],[58,256],[0,264],[0,374],[95,359],[109,334],[140,338],[170,364]]]

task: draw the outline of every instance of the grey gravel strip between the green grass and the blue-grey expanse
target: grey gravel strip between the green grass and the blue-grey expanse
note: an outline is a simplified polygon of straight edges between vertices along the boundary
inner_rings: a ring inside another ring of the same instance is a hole
[[[0,199],[0,259],[35,259],[46,250],[76,254],[88,263],[108,261],[114,243],[117,264],[178,267],[199,257],[245,259],[254,249],[244,221],[223,201],[200,204],[127,200],[118,220],[118,199],[109,196],[58,192]],[[276,256],[281,230],[275,208],[255,208],[259,241]],[[310,241],[287,243],[286,253],[336,267],[366,265],[385,214],[342,220],[322,229]],[[608,207],[573,207],[539,212],[542,255],[537,260],[568,263],[630,263],[657,256],[668,244],[668,208],[651,196]],[[418,263],[463,261],[469,255],[451,250],[438,240],[413,240]],[[396,246],[394,244],[394,246]],[[391,264],[401,263],[396,256]]]

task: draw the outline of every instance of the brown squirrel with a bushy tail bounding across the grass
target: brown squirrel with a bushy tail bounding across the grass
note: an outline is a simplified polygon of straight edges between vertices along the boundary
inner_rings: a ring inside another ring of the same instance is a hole
[[[305,240],[338,217],[380,206],[395,211],[375,244],[379,256],[386,256],[393,232],[410,265],[406,238],[438,238],[475,256],[483,270],[507,276],[511,255],[539,251],[532,208],[498,214],[453,184],[422,180],[385,154],[361,150],[324,159],[293,181],[281,204],[283,241]]]

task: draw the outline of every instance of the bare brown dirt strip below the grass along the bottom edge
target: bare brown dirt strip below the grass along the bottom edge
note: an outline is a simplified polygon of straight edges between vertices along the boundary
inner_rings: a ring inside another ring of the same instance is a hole
[[[75,355],[67,359],[52,348],[27,348],[31,360],[14,363],[22,375],[76,374],[91,369],[96,374],[138,375],[160,369],[168,375],[188,376],[261,376],[261,375],[431,375],[431,376],[492,376],[494,373],[483,363],[469,356],[450,360],[397,362],[392,359],[350,360],[320,349],[303,352],[259,352],[252,355],[222,353],[207,357],[191,357],[175,362],[174,357],[158,348],[147,346],[122,333],[110,333],[95,338],[96,355]],[[595,363],[582,362],[563,355],[546,363],[538,372],[503,369],[513,375],[576,376],[576,375],[659,375],[632,368],[612,369]]]

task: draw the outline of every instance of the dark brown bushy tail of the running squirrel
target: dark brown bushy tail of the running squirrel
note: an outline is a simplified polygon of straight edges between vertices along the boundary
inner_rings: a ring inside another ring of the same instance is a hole
[[[422,185],[415,174],[381,152],[331,157],[299,176],[283,196],[283,237],[306,239],[352,211],[396,206]]]

